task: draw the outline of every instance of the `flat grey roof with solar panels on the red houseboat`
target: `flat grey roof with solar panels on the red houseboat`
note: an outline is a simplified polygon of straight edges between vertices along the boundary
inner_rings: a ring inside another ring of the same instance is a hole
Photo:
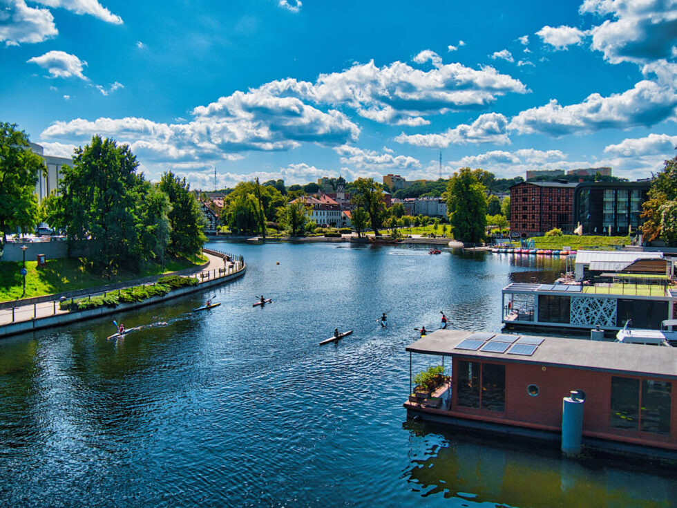
[[[410,344],[406,350],[423,355],[500,360],[504,363],[677,379],[677,348],[659,346],[468,330],[436,330]]]

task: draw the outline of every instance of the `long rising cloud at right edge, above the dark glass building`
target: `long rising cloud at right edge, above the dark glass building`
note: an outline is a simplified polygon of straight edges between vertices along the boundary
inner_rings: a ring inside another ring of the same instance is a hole
[[[608,97],[593,93],[580,104],[561,106],[553,99],[545,106],[527,109],[513,117],[509,129],[520,134],[565,135],[651,126],[674,115],[676,106],[674,88],[644,80],[630,90]]]

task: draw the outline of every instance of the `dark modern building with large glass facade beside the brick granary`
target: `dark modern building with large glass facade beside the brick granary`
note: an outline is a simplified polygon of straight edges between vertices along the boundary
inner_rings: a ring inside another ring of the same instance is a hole
[[[651,187],[640,182],[584,182],[573,193],[573,220],[583,226],[583,234],[626,235],[644,222],[642,203]]]

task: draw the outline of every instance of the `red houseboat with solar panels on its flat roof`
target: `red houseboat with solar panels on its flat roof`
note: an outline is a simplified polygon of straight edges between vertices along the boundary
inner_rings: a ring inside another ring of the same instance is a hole
[[[434,355],[449,375],[432,393],[410,381],[409,417],[559,442],[576,393],[584,450],[677,461],[677,348],[437,330],[406,350],[410,373],[412,355]]]

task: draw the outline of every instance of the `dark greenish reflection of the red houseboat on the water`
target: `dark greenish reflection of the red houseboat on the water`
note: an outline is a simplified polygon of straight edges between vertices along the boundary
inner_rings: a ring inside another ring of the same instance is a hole
[[[403,429],[413,457],[403,478],[423,498],[511,507],[672,507],[677,500],[674,469],[647,473],[638,462],[567,459],[556,444],[428,422],[408,420]]]

